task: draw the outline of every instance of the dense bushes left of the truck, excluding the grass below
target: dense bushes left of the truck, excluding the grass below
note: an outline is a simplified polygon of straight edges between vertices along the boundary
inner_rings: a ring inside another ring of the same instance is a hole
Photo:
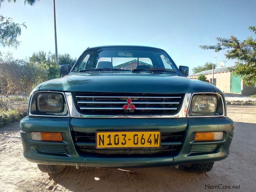
[[[0,58],[0,94],[28,95],[33,87],[56,78],[59,68],[51,63],[14,60],[11,55]]]

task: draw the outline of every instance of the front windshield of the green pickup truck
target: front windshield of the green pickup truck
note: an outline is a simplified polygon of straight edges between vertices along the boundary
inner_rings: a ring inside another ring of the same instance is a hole
[[[140,70],[150,68],[177,70],[166,52],[144,47],[92,48],[78,59],[72,72],[83,70]]]

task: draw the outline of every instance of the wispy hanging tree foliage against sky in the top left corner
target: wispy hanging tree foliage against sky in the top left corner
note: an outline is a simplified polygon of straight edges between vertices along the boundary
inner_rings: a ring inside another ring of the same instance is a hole
[[[0,0],[0,8],[3,2],[4,0]],[[8,0],[8,3],[10,2],[12,2],[12,0]],[[13,0],[13,2],[15,3],[16,0]],[[31,6],[33,6],[35,2],[36,0],[24,0],[24,4],[28,3]],[[25,22],[21,24],[15,23],[12,18],[0,15],[0,45],[17,49],[20,44],[17,37],[21,35],[21,27],[27,28]]]

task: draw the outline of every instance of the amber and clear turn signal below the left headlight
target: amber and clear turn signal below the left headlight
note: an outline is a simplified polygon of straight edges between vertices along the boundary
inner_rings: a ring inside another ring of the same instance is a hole
[[[63,141],[61,133],[58,132],[31,132],[32,140],[39,141]]]

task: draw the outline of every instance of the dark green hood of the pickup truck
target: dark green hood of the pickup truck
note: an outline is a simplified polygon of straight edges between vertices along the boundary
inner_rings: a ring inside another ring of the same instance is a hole
[[[42,90],[67,92],[193,93],[215,92],[211,84],[167,73],[71,73],[44,82]]]

